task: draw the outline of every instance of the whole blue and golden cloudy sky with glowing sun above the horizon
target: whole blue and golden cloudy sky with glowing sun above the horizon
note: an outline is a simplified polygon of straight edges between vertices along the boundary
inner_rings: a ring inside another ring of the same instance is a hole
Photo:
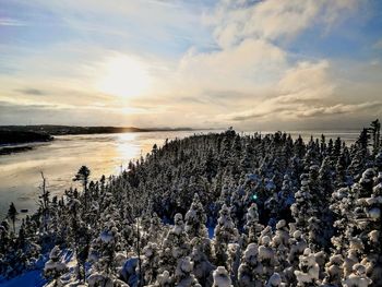
[[[0,0],[0,124],[359,129],[379,0]]]

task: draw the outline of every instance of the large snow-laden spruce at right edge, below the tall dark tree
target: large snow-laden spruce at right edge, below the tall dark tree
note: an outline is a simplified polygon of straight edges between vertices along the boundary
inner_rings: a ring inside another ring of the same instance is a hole
[[[367,169],[359,182],[355,183],[351,189],[343,188],[333,193],[335,201],[331,208],[336,215],[336,222],[334,223],[336,235],[332,238],[332,242],[337,253],[345,256],[345,276],[349,275],[354,264],[361,260],[368,261],[363,255],[365,252],[370,258],[370,262],[375,262],[375,255],[372,255],[371,250],[375,250],[372,241],[378,239],[370,240],[372,238],[370,235],[380,230],[381,205],[378,207],[379,203],[375,200],[378,199],[378,188],[374,190],[377,196],[372,195],[373,176],[374,171]],[[379,250],[377,253],[380,253]],[[377,262],[379,261],[377,255]],[[380,263],[377,263],[377,265],[380,265]]]

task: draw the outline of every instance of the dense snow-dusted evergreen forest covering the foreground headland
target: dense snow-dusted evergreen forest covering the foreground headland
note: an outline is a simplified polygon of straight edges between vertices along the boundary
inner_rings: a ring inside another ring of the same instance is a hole
[[[0,225],[0,284],[382,286],[380,122],[346,145],[232,129],[154,145],[119,176],[52,196]]]

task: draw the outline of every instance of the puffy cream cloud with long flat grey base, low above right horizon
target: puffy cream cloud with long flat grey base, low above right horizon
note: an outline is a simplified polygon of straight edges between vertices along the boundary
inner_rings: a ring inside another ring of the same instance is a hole
[[[219,119],[229,122],[244,121],[301,121],[307,118],[338,117],[341,115],[378,115],[382,101],[341,101],[335,81],[331,75],[331,64],[320,62],[299,62],[286,71],[278,81],[273,97],[264,98],[254,108],[220,115]],[[338,100],[336,98],[338,97]],[[346,100],[346,98],[345,98]]]

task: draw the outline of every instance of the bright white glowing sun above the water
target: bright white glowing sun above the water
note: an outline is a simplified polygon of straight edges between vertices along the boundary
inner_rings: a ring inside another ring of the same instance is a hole
[[[128,98],[140,96],[148,89],[147,68],[133,57],[112,57],[105,61],[103,70],[97,81],[97,88],[103,93]]]

